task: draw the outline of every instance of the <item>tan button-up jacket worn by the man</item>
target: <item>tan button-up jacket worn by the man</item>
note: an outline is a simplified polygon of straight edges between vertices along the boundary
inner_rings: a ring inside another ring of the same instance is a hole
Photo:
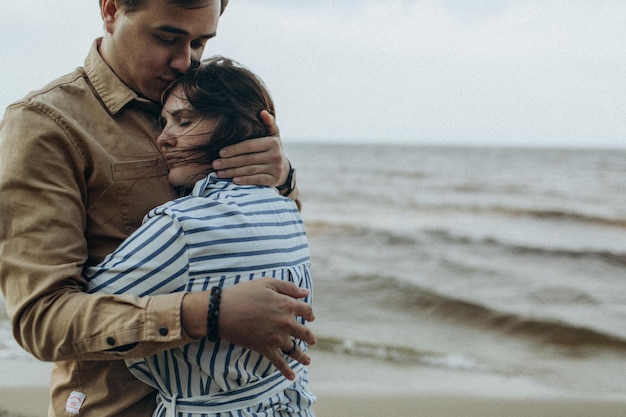
[[[9,106],[0,123],[0,284],[14,336],[56,362],[50,416],[149,416],[152,389],[127,371],[190,339],[182,293],[87,295],[84,265],[112,252],[174,197],[155,145],[159,109],[124,85],[96,41],[84,68]]]

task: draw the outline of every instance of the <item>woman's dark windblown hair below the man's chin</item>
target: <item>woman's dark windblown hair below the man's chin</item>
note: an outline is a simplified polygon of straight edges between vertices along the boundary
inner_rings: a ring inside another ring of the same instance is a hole
[[[241,64],[220,56],[192,67],[165,90],[161,101],[165,103],[171,94],[181,94],[200,118],[216,120],[215,129],[206,132],[210,137],[207,144],[185,150],[186,163],[208,165],[225,146],[267,136],[260,113],[275,114],[263,81]]]

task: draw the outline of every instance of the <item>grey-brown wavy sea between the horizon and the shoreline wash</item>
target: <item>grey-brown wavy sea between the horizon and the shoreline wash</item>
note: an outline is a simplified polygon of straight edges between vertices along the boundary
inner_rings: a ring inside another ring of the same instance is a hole
[[[626,149],[284,146],[313,262],[314,360],[626,398]],[[0,308],[10,358],[28,354]]]

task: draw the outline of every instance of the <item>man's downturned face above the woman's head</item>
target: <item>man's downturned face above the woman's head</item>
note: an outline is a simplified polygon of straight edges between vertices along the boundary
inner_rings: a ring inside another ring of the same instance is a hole
[[[104,0],[106,35],[100,54],[118,77],[142,97],[159,101],[163,90],[200,60],[215,36],[220,2],[192,9],[148,0],[133,13]]]

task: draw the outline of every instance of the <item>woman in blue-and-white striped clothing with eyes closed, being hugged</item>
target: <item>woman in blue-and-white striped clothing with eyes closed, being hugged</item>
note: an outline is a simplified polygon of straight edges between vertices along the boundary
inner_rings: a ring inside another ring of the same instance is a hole
[[[274,113],[270,95],[250,71],[218,57],[187,72],[163,102],[157,142],[169,181],[183,197],[150,211],[117,251],[86,269],[89,291],[142,296],[212,289],[207,339],[127,361],[136,377],[159,390],[155,416],[313,416],[303,365],[291,360],[296,379],[290,381],[267,358],[217,337],[220,288],[268,276],[312,285],[294,201],[275,188],[237,186],[211,172],[222,147],[267,133],[259,114]],[[292,352],[297,347],[306,350],[294,340]]]

